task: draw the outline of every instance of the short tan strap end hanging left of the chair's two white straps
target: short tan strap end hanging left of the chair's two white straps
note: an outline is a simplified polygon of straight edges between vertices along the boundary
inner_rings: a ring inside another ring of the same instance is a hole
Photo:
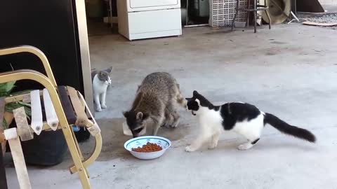
[[[33,139],[34,136],[29,129],[25,108],[20,107],[18,109],[15,109],[13,110],[13,114],[15,118],[16,127],[18,127],[18,135],[20,136],[21,141],[28,141],[30,139]]]

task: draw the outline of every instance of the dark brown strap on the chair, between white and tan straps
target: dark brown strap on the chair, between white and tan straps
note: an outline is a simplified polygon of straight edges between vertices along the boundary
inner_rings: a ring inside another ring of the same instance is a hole
[[[62,104],[63,111],[65,111],[65,117],[70,125],[76,123],[76,114],[72,108],[72,102],[70,102],[69,96],[65,86],[58,86],[58,95]],[[63,126],[63,125],[62,125]]]

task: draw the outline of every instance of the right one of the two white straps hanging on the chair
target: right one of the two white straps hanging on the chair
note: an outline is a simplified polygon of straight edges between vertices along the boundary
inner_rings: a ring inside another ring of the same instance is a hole
[[[49,92],[47,89],[44,89],[44,111],[46,112],[46,120],[51,127],[51,130],[55,131],[58,130],[58,116],[56,115],[53,102],[51,102],[51,96],[49,95]]]

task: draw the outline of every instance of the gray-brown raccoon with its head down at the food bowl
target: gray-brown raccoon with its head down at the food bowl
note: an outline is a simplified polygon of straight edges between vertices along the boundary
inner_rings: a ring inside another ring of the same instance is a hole
[[[186,108],[179,84],[170,73],[146,76],[138,86],[131,110],[123,113],[133,137],[138,137],[145,127],[152,128],[154,136],[161,126],[177,127],[180,116],[176,104]]]

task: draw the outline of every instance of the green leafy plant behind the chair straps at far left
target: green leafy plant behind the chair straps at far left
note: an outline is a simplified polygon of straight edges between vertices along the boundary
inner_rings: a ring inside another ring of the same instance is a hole
[[[15,92],[11,94],[14,87],[15,87],[15,81],[10,81],[7,83],[0,83],[0,97],[11,97],[13,95],[24,94],[25,92],[27,92],[27,91],[22,91],[22,92]],[[5,106],[5,111],[9,113],[13,113],[13,110],[18,109],[22,106],[25,108],[27,118],[30,119],[30,117],[32,116],[31,106],[30,104],[27,104],[24,102],[8,103]],[[3,125],[5,129],[8,128],[8,125],[5,119],[3,120]]]

